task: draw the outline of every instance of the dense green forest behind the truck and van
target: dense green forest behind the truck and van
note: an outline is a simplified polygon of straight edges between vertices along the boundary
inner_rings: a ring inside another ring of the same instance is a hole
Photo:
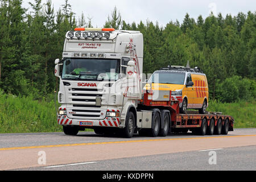
[[[0,1],[0,93],[46,100],[58,89],[54,60],[61,59],[65,33],[93,27],[92,18],[76,18],[71,1],[59,10],[52,1]],[[85,8],[86,11],[86,8]],[[167,65],[200,67],[207,75],[209,97],[220,102],[250,101],[256,96],[256,12],[237,15],[184,15],[183,22],[126,22],[116,7],[102,27],[138,30],[144,38],[143,72]]]

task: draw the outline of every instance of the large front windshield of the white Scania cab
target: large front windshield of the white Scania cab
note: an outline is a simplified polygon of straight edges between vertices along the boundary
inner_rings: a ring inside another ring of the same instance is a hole
[[[61,78],[64,80],[118,80],[117,59],[76,59],[63,61]]]

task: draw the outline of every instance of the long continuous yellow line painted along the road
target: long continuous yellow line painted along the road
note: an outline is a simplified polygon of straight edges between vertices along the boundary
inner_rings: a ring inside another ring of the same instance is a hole
[[[231,137],[256,137],[256,135],[234,135],[234,136],[193,137],[193,138],[165,138],[165,139],[124,140],[124,141],[115,141],[115,142],[91,142],[91,143],[52,144],[52,145],[47,145],[47,146],[27,146],[27,147],[0,148],[0,151],[1,150],[31,149],[31,148],[86,146],[86,145],[90,145],[90,144],[113,144],[113,143],[152,142],[152,141],[185,140],[185,139],[207,139],[207,138],[231,138]]]

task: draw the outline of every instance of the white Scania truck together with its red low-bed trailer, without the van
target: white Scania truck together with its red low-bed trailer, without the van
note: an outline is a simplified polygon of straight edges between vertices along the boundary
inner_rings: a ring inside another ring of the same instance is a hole
[[[200,135],[233,131],[234,119],[227,115],[179,114],[175,90],[143,90],[139,31],[75,28],[65,35],[63,58],[55,64],[61,104],[57,122],[65,134],[86,128],[127,138],[137,132],[166,136],[171,129]]]

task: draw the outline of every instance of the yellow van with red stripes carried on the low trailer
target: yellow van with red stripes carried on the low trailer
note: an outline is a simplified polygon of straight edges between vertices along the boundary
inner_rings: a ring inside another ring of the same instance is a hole
[[[171,90],[171,99],[180,101],[180,113],[187,109],[198,109],[205,114],[208,107],[207,77],[200,69],[168,67],[155,71],[144,90]]]

